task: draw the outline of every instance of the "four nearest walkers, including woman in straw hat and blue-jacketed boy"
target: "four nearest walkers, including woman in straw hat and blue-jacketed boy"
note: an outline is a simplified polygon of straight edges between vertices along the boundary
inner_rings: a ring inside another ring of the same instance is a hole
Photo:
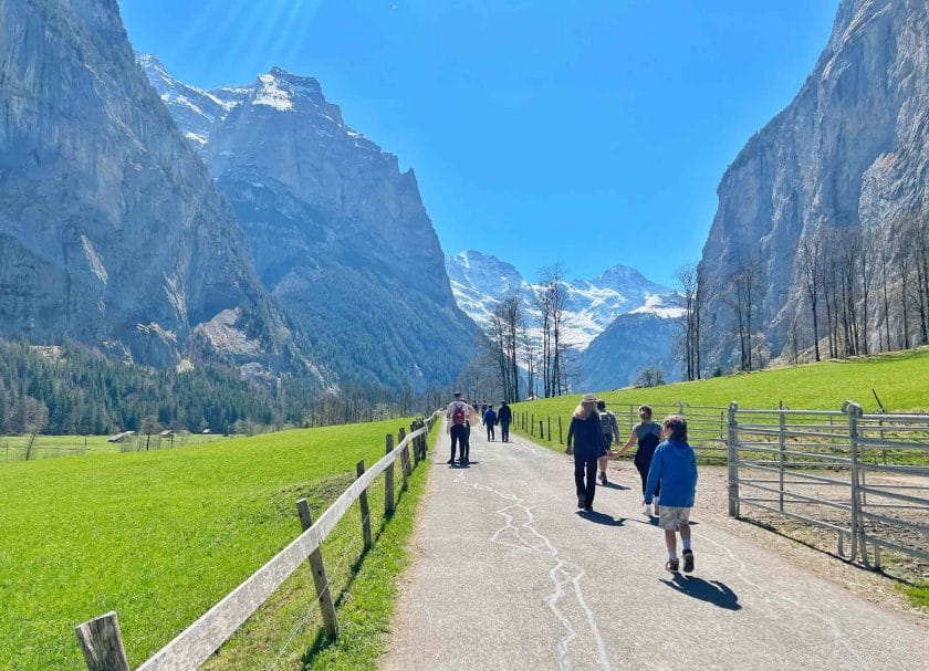
[[[610,444],[618,444],[618,424],[606,402],[593,394],[582,397],[567,430],[567,453],[574,455],[574,485],[577,507],[593,512],[596,496],[597,465],[601,483],[607,484],[606,466]],[[658,517],[665,531],[668,562],[665,567],[680,569],[677,555],[677,534],[683,545],[683,570],[693,570],[693,549],[690,546],[690,510],[697,490],[697,457],[687,442],[687,421],[671,415],[662,424],[651,421],[651,408],[639,408],[639,422],[629,440],[617,452],[622,455],[637,443],[635,465],[641,479],[643,514]],[[660,494],[660,509],[658,505]],[[654,511],[650,506],[654,504]]]

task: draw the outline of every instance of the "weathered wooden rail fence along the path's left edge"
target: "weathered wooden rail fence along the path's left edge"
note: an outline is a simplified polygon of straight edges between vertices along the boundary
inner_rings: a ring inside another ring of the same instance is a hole
[[[313,522],[306,500],[298,501],[296,509],[303,533],[203,614],[196,622],[180,632],[171,642],[150,657],[139,667],[139,671],[192,671],[198,669],[223,642],[236,633],[239,627],[269,599],[291,574],[307,560],[313,572],[313,581],[324,628],[330,638],[336,638],[338,636],[338,619],[326,577],[322,544],[355,501],[359,501],[364,547],[365,549],[370,548],[370,518],[366,510],[368,487],[377,478],[384,475],[384,513],[389,515],[394,511],[396,501],[394,496],[394,463],[400,460],[403,486],[405,489],[413,468],[426,458],[426,438],[439,417],[439,412],[436,412],[431,417],[415,421],[410,426],[409,434],[406,436],[401,429],[400,440],[396,447],[394,447],[394,437],[388,434],[386,437],[386,454],[369,470],[365,470],[364,461],[358,462],[355,482],[315,522]],[[90,671],[129,671],[116,612],[107,612],[84,622],[77,627],[76,631]]]

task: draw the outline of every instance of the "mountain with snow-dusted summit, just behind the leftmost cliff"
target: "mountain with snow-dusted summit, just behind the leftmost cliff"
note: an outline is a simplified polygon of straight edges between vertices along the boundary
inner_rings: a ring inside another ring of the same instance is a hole
[[[333,381],[452,381],[478,331],[455,303],[413,171],[347,127],[314,78],[274,69],[203,92],[140,60],[232,203],[295,339]]]

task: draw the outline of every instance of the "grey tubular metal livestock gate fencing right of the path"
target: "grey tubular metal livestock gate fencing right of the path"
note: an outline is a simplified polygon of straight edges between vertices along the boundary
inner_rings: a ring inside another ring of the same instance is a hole
[[[731,403],[728,432],[730,516],[745,505],[826,530],[876,569],[883,549],[929,560],[929,416]]]

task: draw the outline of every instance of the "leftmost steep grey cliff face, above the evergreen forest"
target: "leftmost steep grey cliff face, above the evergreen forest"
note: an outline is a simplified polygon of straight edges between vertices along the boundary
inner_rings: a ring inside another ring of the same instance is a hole
[[[0,13],[0,337],[154,365],[276,360],[288,331],[116,1]]]

